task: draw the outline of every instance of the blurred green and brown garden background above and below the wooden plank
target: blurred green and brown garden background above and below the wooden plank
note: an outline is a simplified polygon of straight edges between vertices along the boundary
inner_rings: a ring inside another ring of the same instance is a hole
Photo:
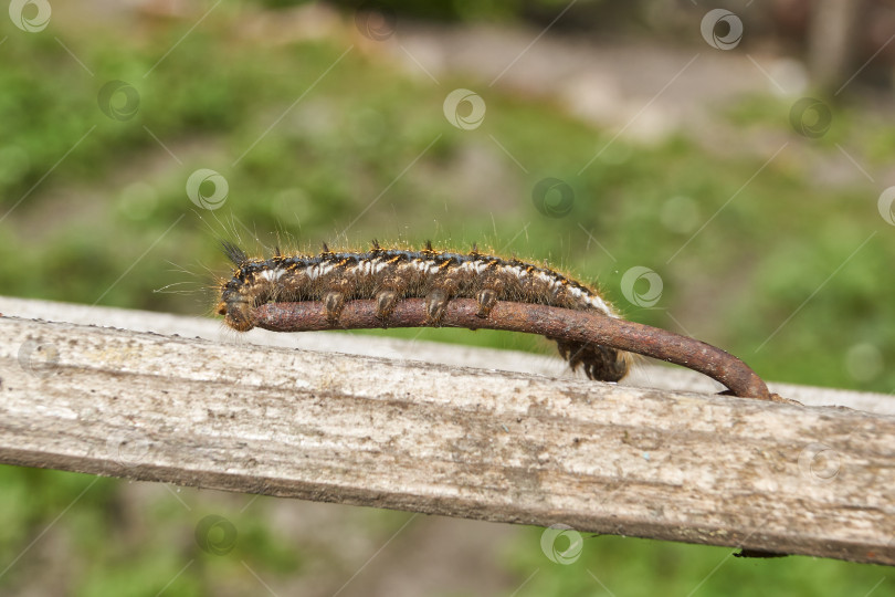
[[[706,36],[708,9],[689,2],[96,1],[52,3],[49,21],[42,2],[12,2],[2,292],[204,316],[228,273],[219,238],[257,254],[477,242],[549,260],[767,379],[892,392],[895,227],[880,198],[895,184],[895,59],[874,52],[895,17],[861,4],[851,18],[870,24],[836,70],[812,45],[809,2],[757,4],[731,7],[745,33],[724,49],[729,23]],[[457,88],[484,118],[445,107]],[[203,168],[222,178],[190,187]],[[647,279],[623,287],[634,266],[661,279],[654,305]],[[565,566],[541,530],[10,467],[0,479],[9,595],[884,595],[895,582],[621,537],[586,538]],[[206,515],[223,516],[214,541],[238,532],[225,553],[197,541]]]

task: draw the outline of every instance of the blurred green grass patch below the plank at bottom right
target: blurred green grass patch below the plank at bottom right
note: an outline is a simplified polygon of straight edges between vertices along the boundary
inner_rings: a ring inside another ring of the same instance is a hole
[[[528,545],[507,559],[519,577],[536,574],[518,594],[526,595],[864,595],[883,580],[880,595],[891,590],[895,572],[810,557],[738,558],[729,549],[675,546],[657,541],[615,536],[583,536],[580,557],[554,563],[537,546],[541,530],[531,530]],[[560,551],[568,544],[557,545]],[[535,548],[533,548],[535,547]],[[596,577],[596,578],[594,578]]]

